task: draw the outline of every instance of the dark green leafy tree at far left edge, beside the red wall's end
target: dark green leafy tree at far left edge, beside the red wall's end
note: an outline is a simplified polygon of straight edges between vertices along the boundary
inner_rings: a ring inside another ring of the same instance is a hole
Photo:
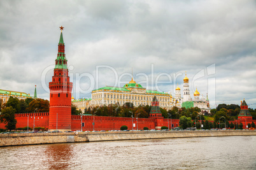
[[[10,106],[3,108],[1,113],[1,123],[4,122],[4,124],[6,124],[6,129],[10,131],[16,129],[17,120],[15,119],[15,112],[16,110],[12,106]]]

